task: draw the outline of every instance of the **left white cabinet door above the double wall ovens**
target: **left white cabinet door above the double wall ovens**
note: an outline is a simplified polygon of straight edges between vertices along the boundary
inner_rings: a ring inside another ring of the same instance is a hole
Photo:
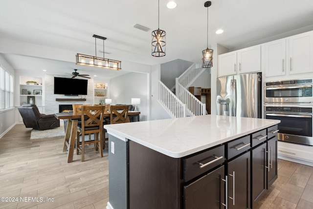
[[[264,46],[265,76],[279,76],[286,74],[286,39],[268,42]],[[262,49],[262,50],[263,50]]]

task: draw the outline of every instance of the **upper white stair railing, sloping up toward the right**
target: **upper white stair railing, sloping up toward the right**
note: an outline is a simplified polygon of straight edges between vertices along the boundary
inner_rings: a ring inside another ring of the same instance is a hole
[[[183,87],[188,87],[196,78],[201,75],[201,72],[204,71],[205,68],[198,63],[194,63],[191,65],[186,71],[184,71],[178,78],[177,81]],[[177,88],[177,87],[176,87]]]

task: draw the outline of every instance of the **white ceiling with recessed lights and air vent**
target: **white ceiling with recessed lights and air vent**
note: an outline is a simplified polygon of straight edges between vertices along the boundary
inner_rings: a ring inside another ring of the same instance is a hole
[[[207,45],[205,0],[175,0],[175,9],[166,7],[168,1],[160,0],[159,6],[159,28],[166,31],[165,57],[151,56],[151,32],[158,24],[157,0],[0,0],[0,38],[95,55],[92,35],[96,34],[107,37],[106,58],[122,60],[122,67],[123,61],[155,65],[183,59],[200,63]],[[313,30],[313,2],[212,0],[209,19],[208,44],[239,49]],[[135,23],[151,29],[138,30]],[[219,28],[224,33],[217,35]],[[99,39],[97,49],[102,49]],[[5,53],[1,46],[0,52]],[[97,55],[102,56],[99,50]],[[83,74],[84,70],[90,75],[96,70],[14,54],[3,57],[18,70],[36,65],[43,68],[45,62],[58,70],[77,68]]]

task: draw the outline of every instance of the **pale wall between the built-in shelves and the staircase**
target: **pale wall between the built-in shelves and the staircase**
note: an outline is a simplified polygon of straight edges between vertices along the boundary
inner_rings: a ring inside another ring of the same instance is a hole
[[[132,98],[140,98],[137,110],[141,121],[150,119],[149,93],[149,73],[131,72],[110,80],[112,104],[132,104]]]

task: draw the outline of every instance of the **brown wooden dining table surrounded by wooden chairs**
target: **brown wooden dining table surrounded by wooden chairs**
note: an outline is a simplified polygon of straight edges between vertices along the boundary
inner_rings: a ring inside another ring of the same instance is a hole
[[[137,117],[137,121],[139,121],[139,115],[140,115],[139,111],[128,111],[127,115],[129,117]],[[78,124],[78,120],[82,117],[82,115],[75,114],[74,112],[62,112],[62,113],[55,113],[54,116],[57,119],[68,120],[67,128],[65,130],[63,152],[67,152],[67,163],[71,163],[73,162],[77,124]],[[104,118],[110,119],[110,111],[107,113],[104,113]]]

